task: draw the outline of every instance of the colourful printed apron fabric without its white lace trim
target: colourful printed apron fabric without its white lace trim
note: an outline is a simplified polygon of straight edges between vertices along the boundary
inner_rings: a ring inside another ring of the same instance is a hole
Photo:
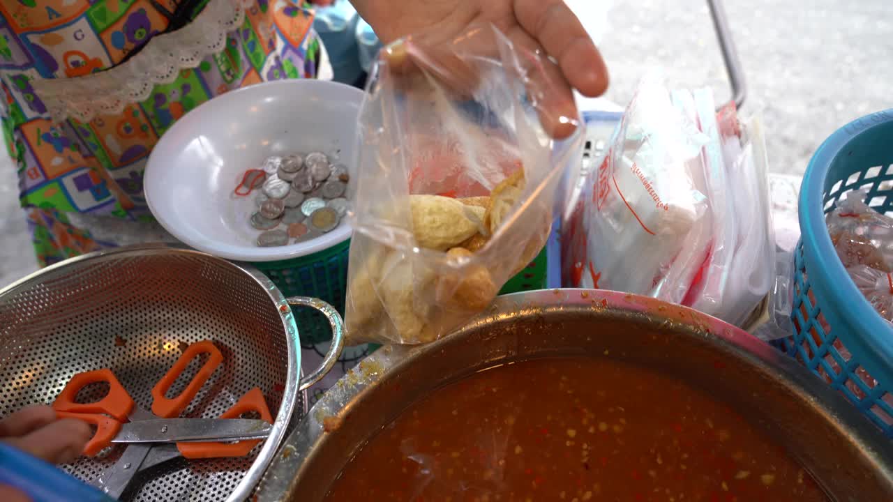
[[[227,0],[204,0],[189,19],[219,1]],[[321,46],[311,29],[312,11],[295,0],[256,0],[223,50],[180,70],[173,82],[154,86],[145,100],[86,122],[54,121],[35,80],[76,79],[125,62],[168,28],[178,4],[0,0],[0,113],[41,265],[117,245],[79,228],[71,213],[152,221],[143,196],[146,160],[185,113],[230,89],[316,77]]]

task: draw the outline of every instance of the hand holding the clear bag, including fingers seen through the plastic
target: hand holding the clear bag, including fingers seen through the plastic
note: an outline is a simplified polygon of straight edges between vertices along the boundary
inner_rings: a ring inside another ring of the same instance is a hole
[[[466,35],[476,27],[492,23],[515,47],[550,56],[551,61],[541,58],[532,79],[546,91],[541,93],[540,119],[555,138],[575,129],[568,121],[577,117],[572,88],[599,96],[608,86],[601,54],[563,0],[352,1],[382,43],[409,37],[405,46],[388,47],[389,63],[408,56],[415,65],[439,72],[454,88],[475,79],[454,54],[455,46],[467,45]]]

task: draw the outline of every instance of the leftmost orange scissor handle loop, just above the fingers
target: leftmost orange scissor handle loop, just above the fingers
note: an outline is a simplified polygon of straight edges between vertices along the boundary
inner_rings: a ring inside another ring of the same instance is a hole
[[[91,383],[106,382],[109,384],[109,393],[96,403],[76,403],[80,389]],[[133,410],[133,399],[115,378],[114,373],[108,368],[94,370],[92,372],[78,373],[71,377],[65,384],[65,388],[59,393],[53,402],[53,409],[57,412],[69,412],[80,414],[108,414],[118,422],[127,422],[127,416]]]

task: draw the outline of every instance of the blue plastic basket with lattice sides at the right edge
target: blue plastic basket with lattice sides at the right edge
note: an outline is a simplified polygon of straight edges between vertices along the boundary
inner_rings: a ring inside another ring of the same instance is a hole
[[[893,329],[856,289],[825,214],[849,191],[893,213],[893,110],[851,122],[819,147],[800,188],[790,356],[839,389],[893,437]]]

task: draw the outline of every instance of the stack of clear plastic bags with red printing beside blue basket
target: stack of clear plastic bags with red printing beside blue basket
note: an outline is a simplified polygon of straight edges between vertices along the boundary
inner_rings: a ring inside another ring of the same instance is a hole
[[[743,325],[774,244],[760,121],[649,75],[563,225],[563,284],[688,305]]]

